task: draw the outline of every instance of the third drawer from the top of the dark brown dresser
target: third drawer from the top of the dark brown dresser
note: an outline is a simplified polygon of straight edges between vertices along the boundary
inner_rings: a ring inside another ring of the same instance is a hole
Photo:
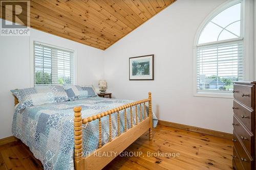
[[[245,129],[245,127],[240,123],[240,121],[237,119],[237,117],[233,116],[233,127],[234,132],[238,135],[240,140],[245,145],[246,150],[250,155],[253,153],[253,141],[254,136],[251,132],[248,132],[248,130]]]

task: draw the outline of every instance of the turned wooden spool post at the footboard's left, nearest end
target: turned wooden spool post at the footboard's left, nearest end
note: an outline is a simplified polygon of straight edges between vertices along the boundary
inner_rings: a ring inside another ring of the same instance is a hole
[[[81,106],[74,107],[74,160],[79,161],[82,159],[82,116]],[[76,165],[76,163],[75,163]]]

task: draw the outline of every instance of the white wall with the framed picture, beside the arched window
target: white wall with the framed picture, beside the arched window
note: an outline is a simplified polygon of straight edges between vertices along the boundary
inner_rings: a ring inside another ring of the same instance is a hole
[[[232,99],[193,96],[193,44],[205,17],[225,0],[178,0],[105,51],[104,77],[116,98],[152,92],[157,117],[232,132]],[[155,54],[155,80],[129,81],[129,57]]]

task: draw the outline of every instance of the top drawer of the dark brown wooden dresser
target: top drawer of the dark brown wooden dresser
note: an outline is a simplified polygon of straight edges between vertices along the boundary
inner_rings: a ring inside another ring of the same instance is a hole
[[[234,99],[237,99],[246,106],[254,109],[254,86],[249,84],[234,84]]]

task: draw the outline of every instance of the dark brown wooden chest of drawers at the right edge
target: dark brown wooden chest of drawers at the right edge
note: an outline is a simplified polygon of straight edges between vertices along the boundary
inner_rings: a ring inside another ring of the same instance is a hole
[[[234,82],[232,162],[237,170],[255,170],[255,85]]]

